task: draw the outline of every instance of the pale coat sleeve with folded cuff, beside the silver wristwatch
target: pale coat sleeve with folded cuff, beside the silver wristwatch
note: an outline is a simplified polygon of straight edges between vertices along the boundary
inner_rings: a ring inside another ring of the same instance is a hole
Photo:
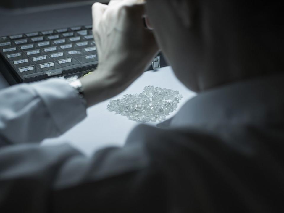
[[[57,137],[86,117],[83,99],[59,79],[11,86],[0,101],[0,147]]]

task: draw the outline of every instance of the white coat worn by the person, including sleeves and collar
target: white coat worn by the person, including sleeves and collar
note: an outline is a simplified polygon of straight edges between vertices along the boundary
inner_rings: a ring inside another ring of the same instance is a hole
[[[284,76],[224,85],[125,146],[40,146],[86,117],[62,80],[0,92],[0,212],[284,212]]]

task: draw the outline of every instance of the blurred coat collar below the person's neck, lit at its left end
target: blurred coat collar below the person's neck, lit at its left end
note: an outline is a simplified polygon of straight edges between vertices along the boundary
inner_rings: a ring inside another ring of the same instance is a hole
[[[283,125],[284,75],[265,76],[202,92],[189,100],[170,127],[237,124]]]

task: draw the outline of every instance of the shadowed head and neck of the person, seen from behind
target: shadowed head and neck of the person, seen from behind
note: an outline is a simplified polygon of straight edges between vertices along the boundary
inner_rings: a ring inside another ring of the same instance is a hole
[[[176,76],[202,91],[282,72],[283,10],[277,2],[147,0],[146,9]]]

